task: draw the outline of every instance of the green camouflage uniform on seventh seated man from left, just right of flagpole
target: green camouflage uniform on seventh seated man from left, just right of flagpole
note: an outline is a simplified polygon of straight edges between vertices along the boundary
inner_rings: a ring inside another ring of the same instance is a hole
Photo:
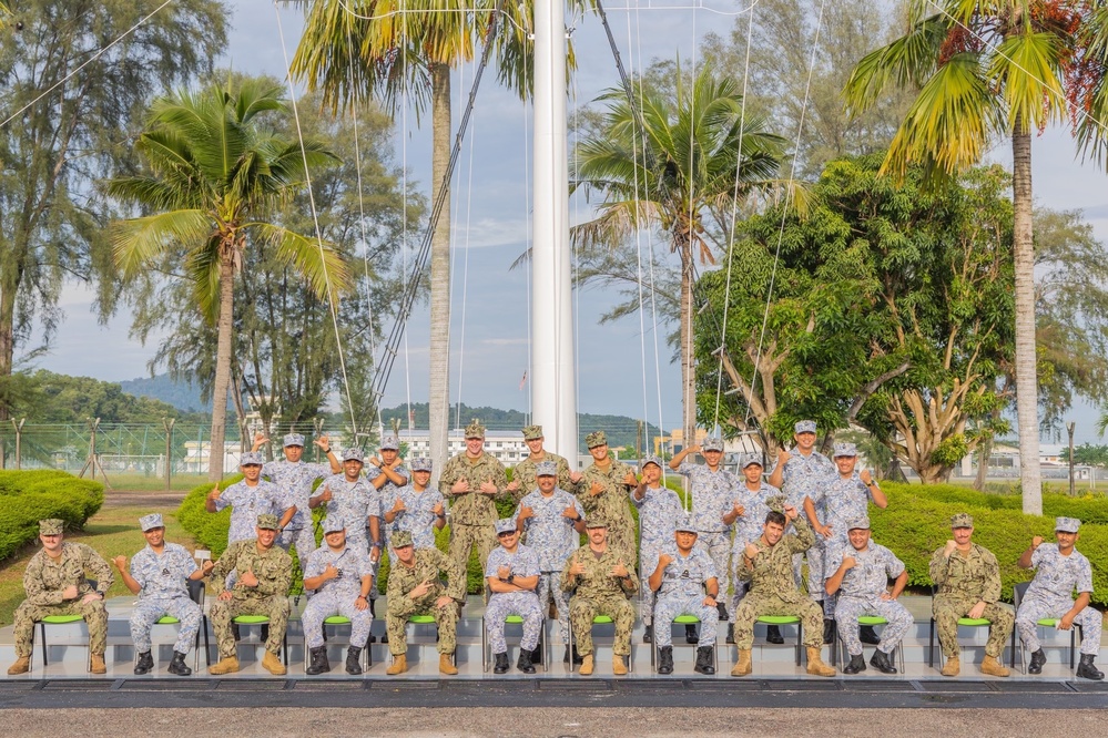
[[[577,561],[585,564],[585,573],[571,576],[569,568]],[[597,615],[607,615],[616,623],[614,653],[619,656],[631,654],[634,609],[627,598],[628,595],[634,594],[639,585],[634,567],[628,561],[627,553],[614,549],[610,543],[599,558],[592,553],[592,549],[586,545],[566,560],[566,565],[561,570],[561,588],[573,594],[569,601],[569,623],[582,656],[592,653],[592,619]],[[626,578],[611,574],[612,568],[619,563],[627,567]]]

